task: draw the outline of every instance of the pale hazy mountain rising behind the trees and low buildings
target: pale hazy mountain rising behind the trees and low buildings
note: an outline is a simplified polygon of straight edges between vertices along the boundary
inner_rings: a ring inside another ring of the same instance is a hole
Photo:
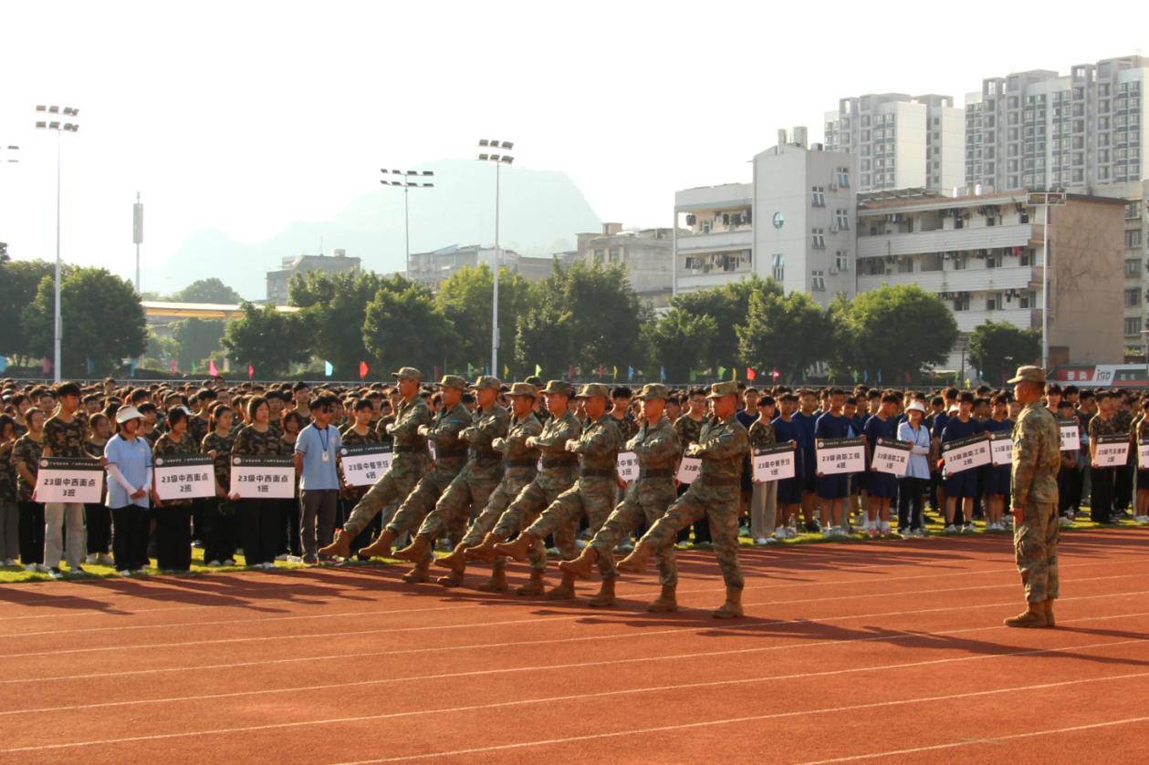
[[[435,185],[410,192],[412,253],[494,242],[492,164],[441,160],[416,169],[432,170],[435,177],[427,180]],[[501,175],[502,247],[523,255],[550,255],[573,249],[576,233],[599,230],[599,217],[566,173],[503,167]],[[348,256],[362,258],[364,269],[403,270],[402,190],[380,187],[330,221],[295,223],[253,245],[233,241],[219,231],[198,231],[148,275],[144,287],[175,292],[210,275],[245,298],[260,300],[267,293],[267,271],[279,268],[284,256],[318,254],[321,240],[324,254],[345,249]]]

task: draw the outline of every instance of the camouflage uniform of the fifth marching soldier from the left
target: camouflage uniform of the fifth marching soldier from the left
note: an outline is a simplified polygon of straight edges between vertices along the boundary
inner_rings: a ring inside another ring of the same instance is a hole
[[[566,391],[570,388],[568,387]],[[507,511],[499,518],[492,532],[500,539],[510,539],[524,530],[543,509],[574,482],[578,458],[566,450],[566,442],[578,439],[583,432],[573,412],[568,410],[562,417],[552,417],[542,426],[542,433],[534,438],[534,445],[542,454],[542,470],[523,487]],[[615,431],[618,432],[617,430]],[[547,555],[542,541],[531,550],[531,567],[546,571]]]

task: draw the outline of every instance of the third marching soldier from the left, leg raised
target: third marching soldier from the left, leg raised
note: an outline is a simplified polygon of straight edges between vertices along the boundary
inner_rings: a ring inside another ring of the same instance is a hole
[[[510,414],[499,405],[502,381],[496,377],[480,377],[471,387],[475,389],[478,409],[471,416],[471,424],[458,433],[458,438],[470,447],[470,457],[462,472],[455,476],[439,497],[434,511],[424,518],[411,544],[395,554],[401,561],[417,564],[426,559],[434,548],[435,538],[452,523],[462,521],[465,526],[471,508],[485,508],[491,493],[502,479],[502,453],[492,447],[495,439],[507,435],[510,423]],[[455,546],[452,555],[456,559],[464,559],[462,542]],[[439,584],[445,587],[455,587],[462,582],[462,569],[453,569],[449,575],[439,578]]]

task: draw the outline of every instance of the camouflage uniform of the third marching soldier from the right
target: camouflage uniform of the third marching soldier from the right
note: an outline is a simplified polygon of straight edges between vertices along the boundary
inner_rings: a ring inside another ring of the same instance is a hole
[[[599,387],[606,389],[606,386]],[[587,388],[594,389],[589,385],[584,386],[584,395],[587,394]],[[571,448],[571,451],[578,455],[578,481],[555,497],[526,533],[540,540],[554,534],[555,547],[563,558],[576,557],[578,554],[574,548],[574,532],[578,528],[579,517],[586,513],[593,534],[607,520],[618,499],[618,447],[622,446],[622,433],[618,432],[610,415],[603,414],[591,423]],[[541,547],[534,544],[531,548],[532,569],[547,566]],[[614,571],[610,556],[599,558],[599,570],[603,577]]]

